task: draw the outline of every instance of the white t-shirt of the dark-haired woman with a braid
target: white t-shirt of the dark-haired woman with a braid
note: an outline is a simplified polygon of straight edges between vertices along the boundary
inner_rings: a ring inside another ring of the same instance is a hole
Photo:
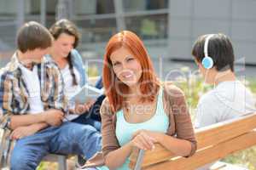
[[[61,75],[63,77],[63,81],[64,81],[64,92],[65,92],[65,95],[67,96],[67,99],[71,99],[72,96],[74,94],[76,94],[79,89],[81,88],[80,85],[79,85],[79,82],[80,82],[80,75],[79,75],[79,71],[73,67],[73,71],[74,71],[74,75],[76,77],[76,80],[78,82],[78,85],[76,86],[73,86],[73,77],[71,75],[71,72],[69,70],[69,65],[66,65],[65,68],[61,69]],[[73,108],[74,109],[74,102],[73,101],[69,101],[69,105],[70,105],[70,108]],[[67,116],[67,119],[68,120],[73,120],[75,119],[76,117],[78,117],[79,115],[68,115]],[[64,122],[66,120],[64,119]]]

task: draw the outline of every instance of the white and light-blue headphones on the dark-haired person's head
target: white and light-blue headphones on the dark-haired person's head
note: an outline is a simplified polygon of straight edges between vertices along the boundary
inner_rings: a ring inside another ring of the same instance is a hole
[[[211,37],[213,37],[214,34],[210,34],[207,36],[205,45],[204,45],[204,54],[205,57],[201,60],[201,65],[203,65],[204,68],[206,69],[211,69],[213,66],[213,60],[212,58],[208,55],[208,43]]]

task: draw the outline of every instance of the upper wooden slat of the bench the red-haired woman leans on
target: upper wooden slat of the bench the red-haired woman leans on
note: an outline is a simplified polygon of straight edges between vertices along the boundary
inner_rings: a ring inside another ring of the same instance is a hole
[[[195,137],[198,142],[198,150],[210,146],[212,147],[214,145],[223,143],[224,141],[234,139],[241,134],[252,131],[254,128],[256,128],[256,113],[248,116],[242,116],[236,120],[220,122],[212,126],[201,128],[195,131]],[[133,169],[136,164],[137,155],[138,150],[133,150],[130,157],[131,169]],[[166,150],[160,144],[156,144],[155,150],[145,151],[142,167],[153,165],[161,161],[170,160],[173,157],[177,156],[175,156],[169,150]]]

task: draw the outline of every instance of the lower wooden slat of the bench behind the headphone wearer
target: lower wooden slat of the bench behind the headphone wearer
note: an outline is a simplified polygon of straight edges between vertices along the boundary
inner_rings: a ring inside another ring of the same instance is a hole
[[[201,167],[212,161],[217,161],[220,158],[230,155],[238,150],[245,150],[256,144],[256,132],[242,134],[235,139],[226,141],[224,143],[212,146],[205,150],[200,150],[194,156],[189,158],[179,157],[174,161],[164,161],[159,164],[152,165],[143,169],[158,170],[166,167],[172,167],[175,170],[192,170],[196,167]]]

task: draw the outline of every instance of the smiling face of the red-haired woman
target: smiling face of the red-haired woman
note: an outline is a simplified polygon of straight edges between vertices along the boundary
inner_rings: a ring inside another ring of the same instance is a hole
[[[110,56],[116,77],[127,86],[136,86],[142,77],[142,65],[126,48],[119,48]]]

